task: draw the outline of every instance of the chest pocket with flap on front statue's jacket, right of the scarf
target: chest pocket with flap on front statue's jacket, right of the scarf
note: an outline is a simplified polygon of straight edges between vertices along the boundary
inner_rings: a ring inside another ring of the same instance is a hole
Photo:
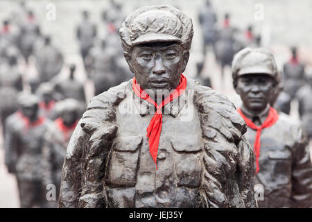
[[[175,137],[171,138],[171,146],[175,152],[173,160],[177,173],[177,186],[199,187],[202,174],[199,139],[193,136]]]

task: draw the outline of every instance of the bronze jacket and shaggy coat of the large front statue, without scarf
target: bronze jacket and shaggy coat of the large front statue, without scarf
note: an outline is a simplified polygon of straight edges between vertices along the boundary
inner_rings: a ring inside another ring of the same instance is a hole
[[[164,106],[157,170],[149,109],[132,80],[92,99],[67,147],[59,207],[255,206],[246,126],[225,96],[187,78]]]

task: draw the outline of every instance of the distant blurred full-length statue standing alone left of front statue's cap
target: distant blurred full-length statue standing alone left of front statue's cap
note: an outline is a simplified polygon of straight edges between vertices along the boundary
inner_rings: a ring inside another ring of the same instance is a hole
[[[76,35],[80,42],[80,53],[83,57],[83,64],[87,73],[89,73],[89,64],[86,58],[89,49],[94,46],[94,38],[96,37],[96,25],[90,22],[89,12],[83,11],[83,22],[78,25]]]

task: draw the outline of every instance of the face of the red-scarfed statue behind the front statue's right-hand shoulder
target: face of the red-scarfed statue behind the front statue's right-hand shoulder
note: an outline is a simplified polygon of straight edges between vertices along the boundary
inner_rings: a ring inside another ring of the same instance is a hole
[[[235,87],[243,106],[251,112],[263,111],[275,94],[275,81],[266,74],[240,76]]]

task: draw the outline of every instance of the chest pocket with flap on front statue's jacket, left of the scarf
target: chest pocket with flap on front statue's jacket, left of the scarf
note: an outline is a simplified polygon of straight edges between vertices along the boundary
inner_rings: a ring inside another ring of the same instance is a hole
[[[110,160],[108,181],[116,187],[133,187],[137,176],[139,147],[143,137],[119,137]]]

